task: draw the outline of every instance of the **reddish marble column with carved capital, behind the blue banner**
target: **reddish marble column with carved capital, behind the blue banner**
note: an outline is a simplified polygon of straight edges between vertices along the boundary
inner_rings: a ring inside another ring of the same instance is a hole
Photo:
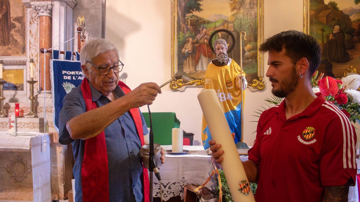
[[[35,9],[39,17],[39,47],[50,49],[51,48],[51,24],[52,24],[52,4],[51,1],[32,1],[31,8]],[[51,92],[50,82],[50,58],[51,53],[45,54],[45,68],[44,68],[44,54],[40,54],[40,91]]]

